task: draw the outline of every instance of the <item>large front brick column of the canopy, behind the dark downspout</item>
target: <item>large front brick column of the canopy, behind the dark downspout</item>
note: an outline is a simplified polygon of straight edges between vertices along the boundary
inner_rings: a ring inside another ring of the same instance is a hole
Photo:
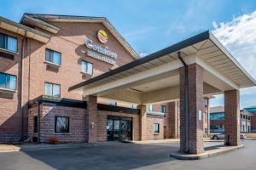
[[[188,113],[188,152],[203,153],[203,69],[200,65],[188,65],[189,80],[189,113]],[[185,122],[185,68],[180,68],[180,151],[186,152],[186,122]]]

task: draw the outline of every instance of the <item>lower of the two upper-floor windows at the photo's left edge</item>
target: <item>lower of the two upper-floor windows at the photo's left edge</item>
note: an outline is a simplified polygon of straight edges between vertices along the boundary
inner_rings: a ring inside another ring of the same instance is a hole
[[[17,77],[9,74],[0,73],[0,88],[16,90]]]

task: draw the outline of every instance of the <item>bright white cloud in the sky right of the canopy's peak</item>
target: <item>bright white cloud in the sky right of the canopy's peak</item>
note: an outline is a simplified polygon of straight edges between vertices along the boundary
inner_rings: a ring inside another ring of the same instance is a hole
[[[212,22],[213,34],[256,79],[256,11],[242,14],[230,22]],[[256,88],[241,89],[241,94],[256,94]]]

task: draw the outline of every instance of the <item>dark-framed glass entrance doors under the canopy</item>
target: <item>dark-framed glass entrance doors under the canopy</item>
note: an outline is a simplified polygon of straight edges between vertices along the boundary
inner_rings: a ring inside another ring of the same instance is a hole
[[[132,118],[108,116],[107,139],[108,141],[132,140]]]

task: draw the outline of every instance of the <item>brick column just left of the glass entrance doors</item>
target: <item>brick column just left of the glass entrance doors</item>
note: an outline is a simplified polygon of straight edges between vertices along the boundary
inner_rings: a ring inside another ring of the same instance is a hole
[[[97,116],[97,97],[87,96],[87,114],[85,129],[87,130],[88,143],[96,143],[96,116]]]

